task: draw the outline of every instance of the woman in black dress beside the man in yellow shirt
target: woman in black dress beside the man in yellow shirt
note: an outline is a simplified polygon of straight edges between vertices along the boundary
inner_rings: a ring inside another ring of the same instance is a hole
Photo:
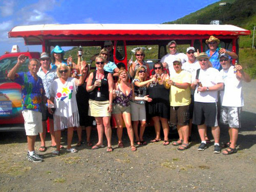
[[[163,65],[161,62],[156,62],[154,64],[155,75],[151,75],[150,78],[157,78],[155,86],[148,86],[148,95],[153,99],[152,102],[148,103],[148,113],[154,121],[156,137],[151,140],[151,142],[161,141],[160,129],[161,123],[163,127],[164,141],[163,145],[169,144],[168,134],[169,134],[169,87],[166,86],[166,80],[169,79],[167,74],[163,73]]]

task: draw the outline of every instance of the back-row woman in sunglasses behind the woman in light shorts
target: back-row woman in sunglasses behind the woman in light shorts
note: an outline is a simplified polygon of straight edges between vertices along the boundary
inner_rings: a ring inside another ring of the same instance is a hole
[[[136,74],[137,70],[139,67],[144,67],[146,69],[146,77],[149,76],[150,74],[150,66],[144,62],[144,57],[145,57],[145,53],[143,51],[143,49],[138,48],[135,51],[135,56],[136,56],[136,60],[132,63],[132,65],[130,66],[129,72],[130,72],[130,76],[134,77],[134,74]],[[130,60],[129,60],[130,63]]]

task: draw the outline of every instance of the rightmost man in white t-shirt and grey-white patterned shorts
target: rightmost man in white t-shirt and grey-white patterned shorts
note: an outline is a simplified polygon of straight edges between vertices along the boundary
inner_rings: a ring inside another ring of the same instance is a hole
[[[232,66],[230,56],[220,55],[222,70],[220,74],[224,81],[224,90],[221,93],[221,122],[228,124],[230,140],[226,143],[228,148],[222,153],[230,155],[237,153],[236,144],[238,131],[241,128],[240,114],[244,105],[242,94],[242,80],[250,82],[250,76],[243,71],[241,65]]]

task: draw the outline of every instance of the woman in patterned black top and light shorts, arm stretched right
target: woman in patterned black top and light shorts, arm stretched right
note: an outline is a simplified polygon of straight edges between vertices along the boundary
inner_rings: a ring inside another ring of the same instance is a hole
[[[133,92],[134,96],[144,97],[146,96],[146,85],[147,83],[156,81],[156,77],[146,80],[146,68],[141,66],[136,71],[133,80]],[[131,111],[133,130],[136,137],[136,143],[138,145],[145,145],[146,141],[143,140],[143,134],[146,126],[146,108],[145,100],[131,100]],[[138,124],[140,121],[140,133],[138,134]]]

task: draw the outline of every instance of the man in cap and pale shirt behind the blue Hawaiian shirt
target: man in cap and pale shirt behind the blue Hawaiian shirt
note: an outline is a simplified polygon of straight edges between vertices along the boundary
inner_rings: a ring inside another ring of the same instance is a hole
[[[57,78],[56,69],[50,69],[50,57],[47,53],[42,53],[40,57],[41,67],[39,68],[37,75],[42,79],[42,84],[44,85],[44,89],[46,92],[46,97],[50,99],[50,90],[51,85],[54,79]],[[42,104],[42,133],[39,133],[41,139],[41,146],[39,148],[40,152],[45,152],[46,148],[46,133],[47,133],[47,119],[49,118],[50,124],[50,134],[52,139],[51,146],[56,146],[55,142],[55,134],[54,134],[54,125],[53,125],[53,115],[48,112],[47,106]]]

